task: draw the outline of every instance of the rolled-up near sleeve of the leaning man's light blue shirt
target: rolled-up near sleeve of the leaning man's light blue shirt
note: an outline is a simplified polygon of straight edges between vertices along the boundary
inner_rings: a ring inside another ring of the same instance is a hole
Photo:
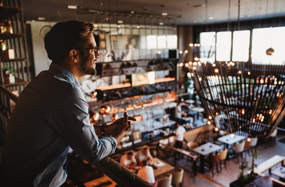
[[[52,106],[50,124],[82,159],[94,163],[115,152],[114,137],[98,139],[95,134],[80,87],[72,84],[63,87]]]

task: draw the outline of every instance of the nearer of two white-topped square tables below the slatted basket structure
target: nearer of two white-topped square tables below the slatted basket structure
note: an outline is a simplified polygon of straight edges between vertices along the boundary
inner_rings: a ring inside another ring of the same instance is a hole
[[[201,146],[192,149],[193,152],[200,155],[200,173],[205,173],[205,156],[213,154],[216,151],[222,149],[221,146],[207,142]]]

